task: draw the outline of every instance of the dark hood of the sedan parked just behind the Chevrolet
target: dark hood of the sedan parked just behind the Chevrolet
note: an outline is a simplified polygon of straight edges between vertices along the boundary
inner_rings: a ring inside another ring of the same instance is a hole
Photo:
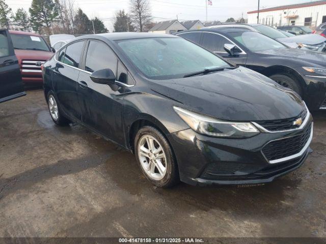
[[[325,67],[326,54],[322,52],[314,52],[307,49],[279,48],[256,52],[257,54],[266,54],[268,56],[282,57],[293,60],[298,65],[317,64]],[[310,64],[307,64],[310,63]],[[295,67],[294,67],[295,68]]]

